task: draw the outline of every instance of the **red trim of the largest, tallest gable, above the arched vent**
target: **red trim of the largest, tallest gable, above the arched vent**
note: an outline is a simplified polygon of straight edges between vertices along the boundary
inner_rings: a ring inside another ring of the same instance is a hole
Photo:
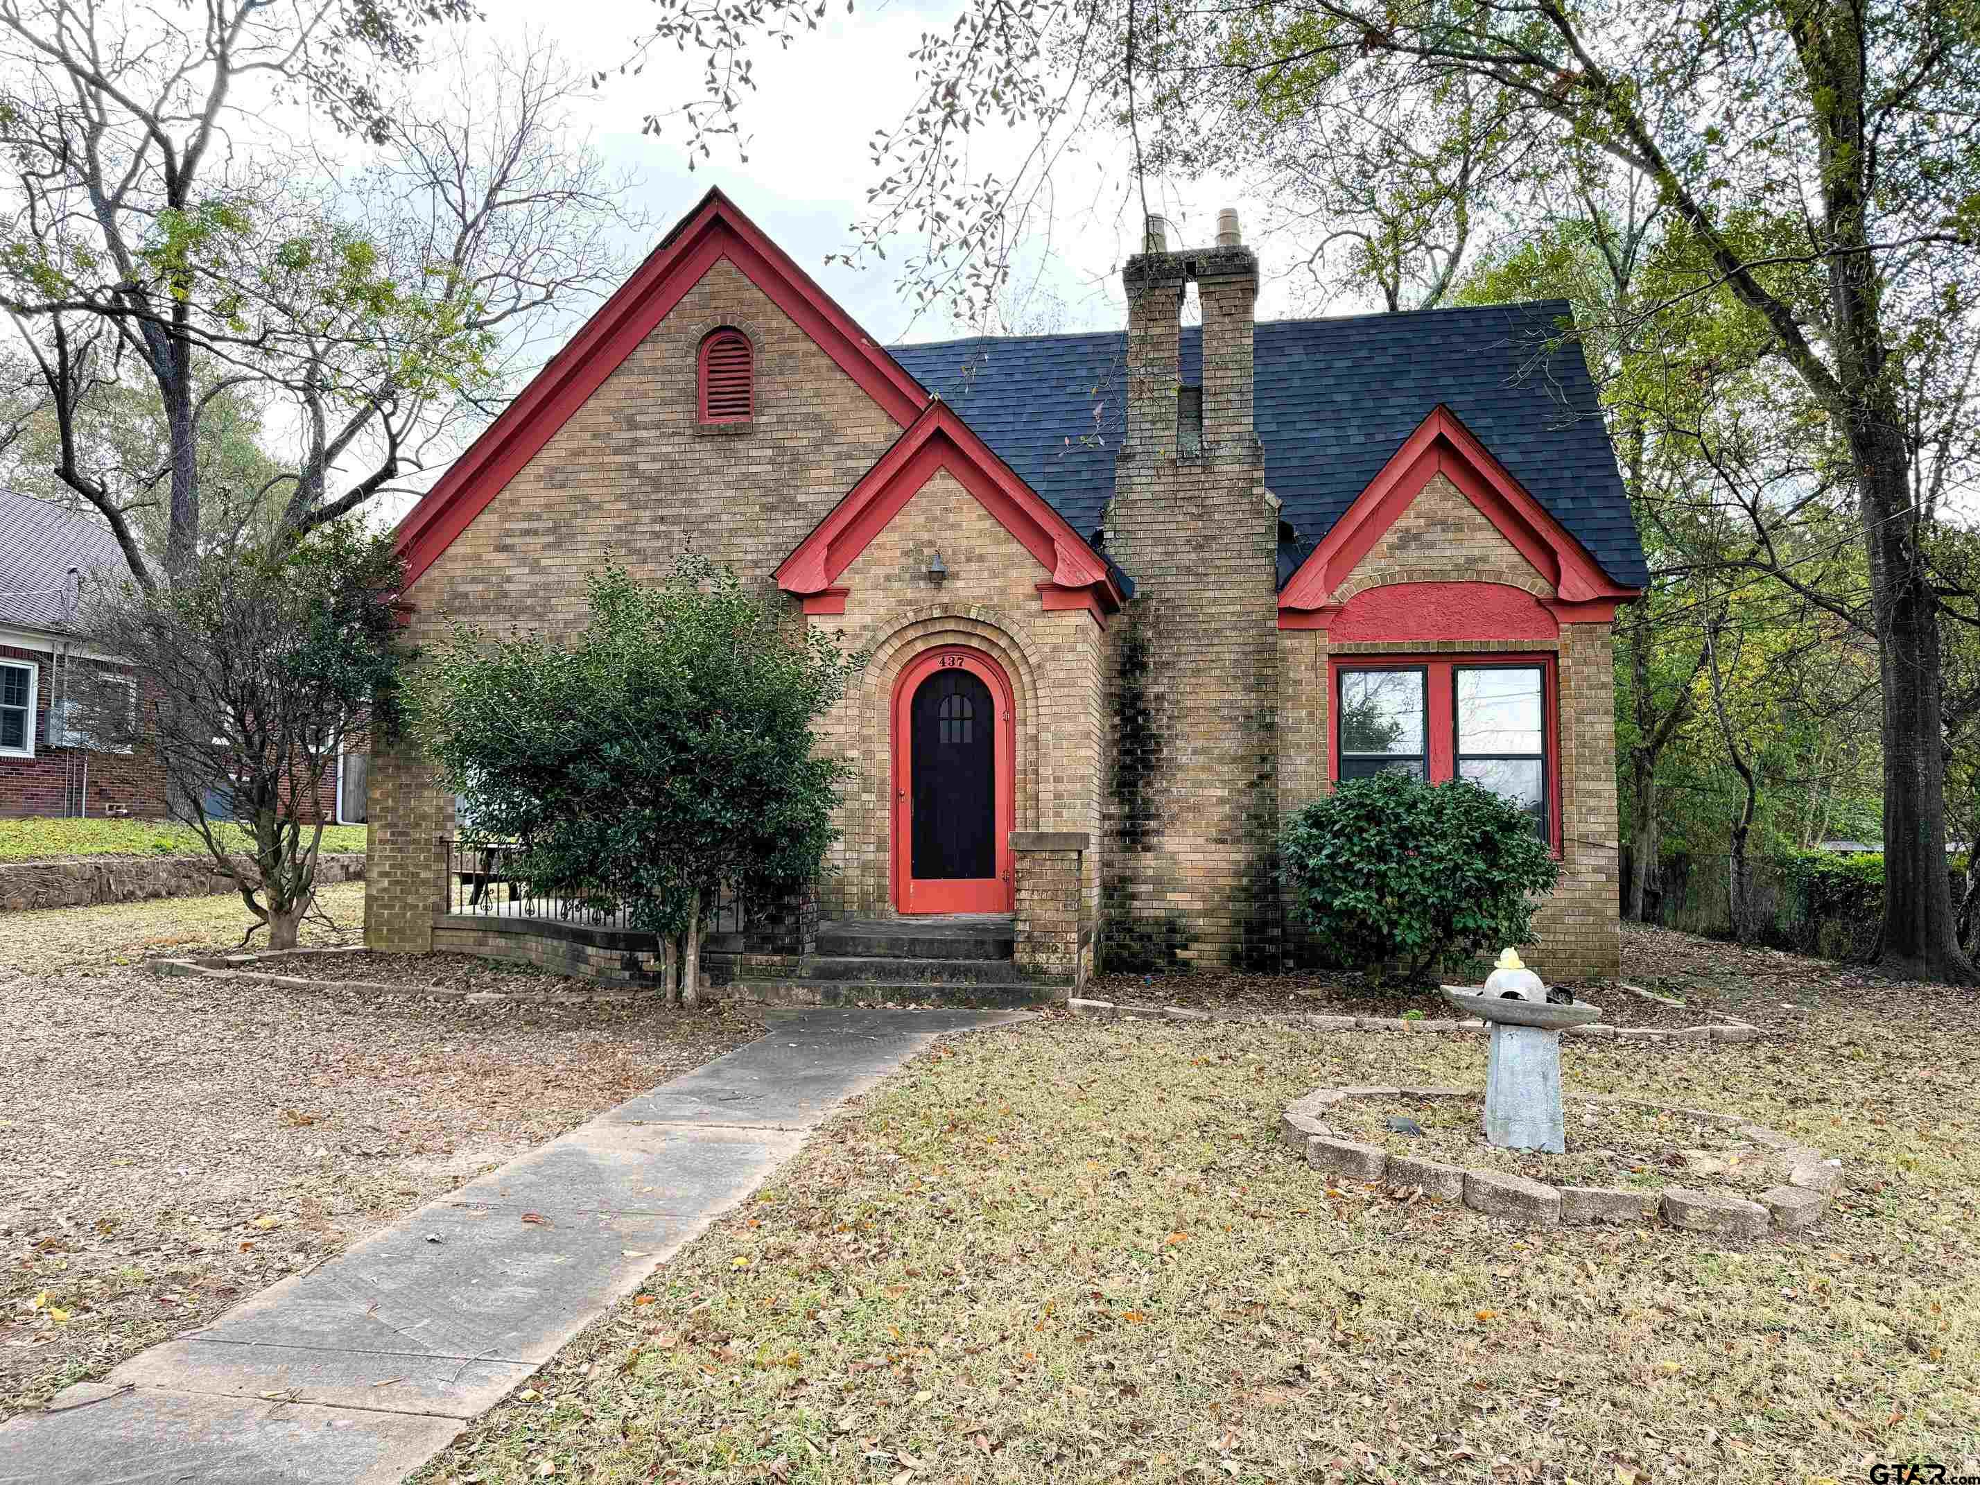
[[[717,261],[729,259],[903,428],[929,400],[782,248],[711,190],[398,523],[410,586]]]

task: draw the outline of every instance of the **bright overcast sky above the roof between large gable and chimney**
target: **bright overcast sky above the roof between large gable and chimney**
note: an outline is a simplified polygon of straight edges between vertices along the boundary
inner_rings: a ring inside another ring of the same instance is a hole
[[[483,10],[489,38],[523,42],[543,36],[586,67],[622,61],[651,14],[645,0],[574,0],[562,6],[483,0]],[[640,119],[647,111],[699,95],[697,57],[671,51],[651,55],[640,77],[614,77],[600,89],[592,107],[594,143],[614,164],[638,170],[640,204],[663,228],[711,184],[721,186],[881,343],[966,333],[946,315],[925,313],[917,321],[895,291],[891,263],[857,271],[824,265],[828,251],[851,246],[849,224],[877,180],[867,154],[869,137],[893,125],[913,99],[907,55],[925,30],[946,30],[954,4],[893,0],[873,6],[861,0],[855,16],[838,4],[828,10],[834,14],[822,30],[804,36],[798,46],[788,51],[764,48],[754,55],[758,89],[746,101],[746,164],[737,160],[731,145],[717,147],[713,160],[689,172],[679,135],[640,135]],[[984,147],[996,154],[994,141],[984,141]],[[1113,141],[1095,141],[1087,158],[1057,174],[1057,184],[1049,238],[1038,234],[1030,244],[1030,261],[1041,271],[1026,275],[1020,289],[1030,291],[1024,313],[1034,321],[1043,317],[1049,329],[1119,329],[1125,317],[1119,269],[1138,242],[1135,212],[1127,206],[1125,152]],[[1164,194],[1160,186],[1150,198],[1156,194]],[[1178,222],[1176,238],[1196,246],[1212,240],[1218,208],[1232,204],[1243,208],[1234,184],[1194,182],[1168,190],[1160,210]],[[897,255],[889,249],[889,257]],[[1283,317],[1291,313],[1285,287],[1273,281],[1269,249],[1265,259],[1259,317]]]

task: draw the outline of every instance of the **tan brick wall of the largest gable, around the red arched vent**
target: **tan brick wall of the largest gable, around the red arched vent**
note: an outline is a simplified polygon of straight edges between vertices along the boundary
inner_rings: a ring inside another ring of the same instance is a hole
[[[756,418],[703,430],[695,352],[719,325],[756,348]],[[408,642],[451,620],[495,634],[584,624],[584,578],[612,552],[665,576],[695,550],[768,588],[770,572],[899,438],[899,426],[735,265],[719,261],[412,586]],[[418,840],[451,800],[410,760],[372,762],[366,942],[422,946],[444,895]],[[382,867],[382,871],[380,871]]]

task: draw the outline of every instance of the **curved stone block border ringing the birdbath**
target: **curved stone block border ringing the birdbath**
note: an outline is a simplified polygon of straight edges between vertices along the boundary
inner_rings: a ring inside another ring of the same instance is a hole
[[[1293,1154],[1305,1156],[1315,1170],[1336,1172],[1348,1180],[1382,1180],[1390,1186],[1420,1188],[1426,1196],[1463,1202],[1473,1212],[1538,1228],[1594,1222],[1634,1224],[1663,1216],[1673,1228],[1687,1232],[1715,1238],[1764,1238],[1770,1232],[1802,1232],[1814,1226],[1828,1212],[1830,1198],[1843,1182],[1841,1160],[1824,1158],[1822,1150],[1798,1144],[1740,1115],[1719,1115],[1657,1099],[1628,1099],[1586,1089],[1572,1089],[1568,1097],[1628,1103],[1637,1109],[1681,1113],[1707,1125],[1731,1127],[1740,1138],[1772,1150],[1768,1162],[1780,1184],[1762,1192],[1758,1202],[1717,1192],[1693,1192],[1683,1186],[1665,1186],[1663,1190],[1548,1186],[1505,1170],[1390,1154],[1376,1144],[1336,1137],[1333,1125],[1323,1119],[1329,1109],[1348,1099],[1396,1097],[1467,1099],[1475,1093],[1455,1087],[1323,1087],[1285,1105],[1285,1113],[1279,1117],[1279,1140]]]

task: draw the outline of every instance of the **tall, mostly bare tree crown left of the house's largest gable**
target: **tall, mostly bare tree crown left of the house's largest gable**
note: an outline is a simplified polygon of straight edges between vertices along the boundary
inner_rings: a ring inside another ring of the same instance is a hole
[[[541,48],[436,57],[426,32],[467,20],[465,0],[0,0],[0,309],[53,477],[139,584],[198,566],[230,400],[283,434],[255,501],[299,541],[451,457],[535,337],[622,281],[616,234],[640,222],[570,139],[582,77]],[[333,119],[348,158],[269,129],[271,97]],[[97,457],[129,396],[164,434],[137,467]]]

